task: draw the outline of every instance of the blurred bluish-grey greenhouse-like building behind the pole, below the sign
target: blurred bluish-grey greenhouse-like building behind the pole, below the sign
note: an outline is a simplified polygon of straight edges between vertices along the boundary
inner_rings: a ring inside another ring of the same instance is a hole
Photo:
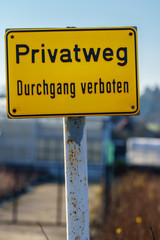
[[[0,163],[45,168],[52,174],[57,174],[61,169],[63,174],[62,119],[9,119],[6,99],[0,98]],[[104,126],[108,119],[87,117],[88,169],[89,178],[93,180],[100,179],[103,173],[102,143],[107,136]]]

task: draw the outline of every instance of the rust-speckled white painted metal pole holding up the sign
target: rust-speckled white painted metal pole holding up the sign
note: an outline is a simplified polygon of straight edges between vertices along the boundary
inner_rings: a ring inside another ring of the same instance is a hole
[[[67,240],[89,240],[85,117],[64,118]]]

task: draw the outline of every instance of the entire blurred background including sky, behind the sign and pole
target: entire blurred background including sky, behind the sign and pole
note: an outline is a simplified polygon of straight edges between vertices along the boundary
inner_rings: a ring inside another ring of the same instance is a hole
[[[62,118],[8,119],[8,28],[137,26],[140,115],[87,117],[92,240],[160,238],[159,0],[0,3],[1,240],[66,239]]]

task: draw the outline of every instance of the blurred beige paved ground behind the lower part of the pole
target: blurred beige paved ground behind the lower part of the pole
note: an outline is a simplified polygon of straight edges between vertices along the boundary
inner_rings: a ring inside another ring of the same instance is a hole
[[[96,204],[99,204],[97,201],[100,191],[99,184],[89,185],[90,219],[95,216],[94,209]],[[17,208],[17,214],[15,214],[15,208]],[[0,239],[45,240],[38,223],[42,225],[49,240],[66,239],[64,184],[42,184],[22,195],[18,199],[18,205],[10,202],[2,204]]]

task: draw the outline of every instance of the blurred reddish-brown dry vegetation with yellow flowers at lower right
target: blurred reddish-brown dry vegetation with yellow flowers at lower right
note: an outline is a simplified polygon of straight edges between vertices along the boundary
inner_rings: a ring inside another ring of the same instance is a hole
[[[110,197],[94,239],[160,239],[160,174],[130,171],[116,179]]]

